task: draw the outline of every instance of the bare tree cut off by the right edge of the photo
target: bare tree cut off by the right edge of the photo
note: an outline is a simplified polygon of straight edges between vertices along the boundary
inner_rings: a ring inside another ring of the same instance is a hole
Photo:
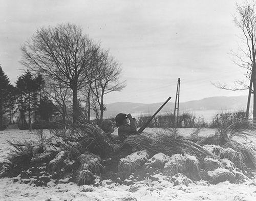
[[[240,68],[245,69],[246,80],[237,80],[234,82],[234,87],[227,84],[216,83],[215,86],[232,91],[242,91],[253,89],[256,87],[256,12],[255,2],[245,1],[242,5],[237,4],[237,13],[234,16],[235,25],[241,30],[240,43],[238,53],[232,52],[236,63]],[[250,99],[250,92],[248,100]],[[247,104],[247,110],[249,101]],[[253,93],[253,118],[256,118],[256,93]]]

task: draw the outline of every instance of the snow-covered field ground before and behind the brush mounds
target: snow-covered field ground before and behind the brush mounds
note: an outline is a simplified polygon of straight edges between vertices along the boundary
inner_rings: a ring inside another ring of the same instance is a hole
[[[155,129],[146,129],[151,132]],[[187,136],[193,129],[180,129]],[[200,136],[215,133],[214,129],[203,129]],[[27,130],[0,131],[0,161],[5,160],[9,150],[6,140],[36,140],[37,136]],[[55,185],[49,182],[47,187],[35,187],[13,182],[13,178],[0,179],[0,200],[256,200],[256,180],[248,180],[236,185],[229,182],[209,185],[206,182],[191,183],[188,186],[174,186],[161,174],[156,181],[145,178],[132,185],[119,185],[110,180],[96,182],[95,185],[77,186],[74,183]]]

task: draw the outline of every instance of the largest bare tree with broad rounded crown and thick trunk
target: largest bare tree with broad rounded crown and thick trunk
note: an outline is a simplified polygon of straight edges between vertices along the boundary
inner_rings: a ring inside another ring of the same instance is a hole
[[[73,24],[41,28],[22,46],[22,64],[60,81],[73,92],[73,123],[79,116],[77,92],[87,82],[99,47]]]

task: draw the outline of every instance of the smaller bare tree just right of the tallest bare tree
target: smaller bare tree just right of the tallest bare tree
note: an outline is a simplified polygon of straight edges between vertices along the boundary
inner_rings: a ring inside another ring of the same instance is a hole
[[[109,55],[108,51],[101,51],[99,54],[99,64],[94,70],[94,82],[92,83],[92,93],[99,105],[99,124],[103,120],[103,113],[106,110],[104,105],[104,95],[115,91],[121,91],[125,87],[125,82],[120,82],[121,68],[115,59]]]

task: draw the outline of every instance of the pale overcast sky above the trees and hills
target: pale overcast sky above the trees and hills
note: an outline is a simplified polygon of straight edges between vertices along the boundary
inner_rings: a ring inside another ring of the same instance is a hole
[[[22,74],[20,45],[42,26],[69,22],[100,41],[122,66],[127,86],[106,96],[106,103],[164,102],[168,96],[174,101],[179,77],[181,102],[247,95],[211,84],[243,76],[230,54],[239,41],[237,1],[0,2],[0,64],[12,83]]]

